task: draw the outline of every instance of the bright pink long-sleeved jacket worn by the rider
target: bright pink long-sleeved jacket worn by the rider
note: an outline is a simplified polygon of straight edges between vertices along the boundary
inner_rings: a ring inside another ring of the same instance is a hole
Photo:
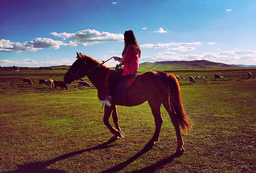
[[[139,69],[139,51],[129,44],[125,50],[125,56],[120,59],[123,63],[123,76],[133,75]]]

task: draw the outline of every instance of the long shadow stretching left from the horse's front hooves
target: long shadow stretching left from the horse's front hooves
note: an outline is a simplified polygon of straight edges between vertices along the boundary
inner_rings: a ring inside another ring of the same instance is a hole
[[[60,172],[60,173],[63,173],[65,172],[65,170],[47,170],[45,169],[47,166],[51,165],[51,164],[54,164],[55,162],[58,162],[60,160],[64,160],[66,158],[70,158],[72,156],[75,156],[77,154],[81,154],[83,152],[89,152],[91,150],[102,150],[102,149],[105,149],[105,148],[109,148],[111,146],[114,146],[113,144],[112,145],[109,145],[113,142],[115,142],[115,140],[117,140],[116,138],[111,138],[110,140],[108,140],[107,142],[103,143],[103,144],[99,144],[97,146],[93,146],[92,148],[87,148],[85,150],[80,150],[80,151],[76,151],[76,152],[70,152],[69,154],[63,154],[57,158],[53,158],[52,160],[47,160],[45,162],[35,162],[35,163],[29,163],[29,164],[24,164],[24,165],[19,165],[18,169],[17,170],[14,170],[14,171],[8,171],[8,172],[5,172],[5,173],[17,173],[17,172]]]

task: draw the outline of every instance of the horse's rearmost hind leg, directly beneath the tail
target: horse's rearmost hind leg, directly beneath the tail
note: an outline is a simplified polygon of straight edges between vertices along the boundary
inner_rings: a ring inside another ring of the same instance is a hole
[[[176,150],[176,152],[177,153],[184,152],[184,148],[183,148],[184,143],[183,143],[183,140],[182,140],[182,137],[181,137],[181,130],[179,129],[179,122],[177,120],[177,116],[176,116],[175,112],[171,111],[171,108],[169,106],[168,97],[163,102],[163,106],[165,107],[169,116],[171,117],[171,122],[173,123],[173,126],[175,128],[175,132],[176,132],[176,136],[177,136],[177,150]]]

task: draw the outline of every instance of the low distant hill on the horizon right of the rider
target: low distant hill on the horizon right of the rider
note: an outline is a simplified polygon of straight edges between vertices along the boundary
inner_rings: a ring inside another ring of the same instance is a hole
[[[159,61],[155,63],[141,63],[140,68],[145,69],[211,69],[211,68],[235,68],[237,65],[227,65],[224,63],[214,63],[206,60],[195,61]]]

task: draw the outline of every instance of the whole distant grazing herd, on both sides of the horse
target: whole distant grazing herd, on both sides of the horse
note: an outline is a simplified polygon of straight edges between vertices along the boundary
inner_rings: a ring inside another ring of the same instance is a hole
[[[252,73],[248,73],[246,79],[251,79],[252,76],[253,76]],[[178,75],[175,75],[175,77],[177,78],[177,81],[181,80]],[[189,78],[190,84],[195,84],[195,77],[188,77],[188,78]],[[203,77],[203,78],[205,78],[205,77]],[[221,79],[223,77],[221,77],[218,74],[215,74],[213,76],[213,78],[215,80],[217,80],[217,79]],[[87,83],[85,81],[79,81],[77,83],[78,83],[78,88],[83,88],[83,86],[90,87],[90,88],[92,87],[89,83]],[[33,85],[33,82],[29,78],[24,78],[23,79],[23,85]],[[54,81],[53,79],[49,79],[49,80],[39,79],[39,86],[43,86],[43,85],[45,85],[45,86],[47,85],[47,86],[49,86],[49,88],[53,88],[53,90],[56,90],[57,86],[61,87],[61,90],[63,88],[65,88],[66,90],[69,89],[69,86],[67,86],[67,84],[65,84],[64,81]]]

